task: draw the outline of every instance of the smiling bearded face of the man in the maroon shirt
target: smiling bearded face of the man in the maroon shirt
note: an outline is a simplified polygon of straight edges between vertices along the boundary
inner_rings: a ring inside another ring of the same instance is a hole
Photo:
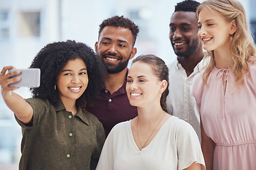
[[[106,26],[95,43],[95,50],[102,59],[109,74],[122,72],[127,68],[137,50],[133,47],[132,31],[127,28]]]

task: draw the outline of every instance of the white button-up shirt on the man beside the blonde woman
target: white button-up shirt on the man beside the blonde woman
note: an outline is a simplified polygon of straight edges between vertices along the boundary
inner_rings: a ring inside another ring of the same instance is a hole
[[[183,69],[178,60],[169,64],[169,95],[167,96],[167,111],[171,115],[190,123],[196,131],[201,141],[200,115],[196,100],[191,94],[193,77],[203,67],[203,60],[199,62],[193,73],[187,77],[186,70]]]

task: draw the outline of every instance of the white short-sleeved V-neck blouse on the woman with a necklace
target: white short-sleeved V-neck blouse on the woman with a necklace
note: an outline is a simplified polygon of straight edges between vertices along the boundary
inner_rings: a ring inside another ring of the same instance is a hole
[[[147,147],[139,150],[132,136],[131,120],[114,126],[100,155],[97,170],[186,169],[205,163],[195,130],[171,116]]]

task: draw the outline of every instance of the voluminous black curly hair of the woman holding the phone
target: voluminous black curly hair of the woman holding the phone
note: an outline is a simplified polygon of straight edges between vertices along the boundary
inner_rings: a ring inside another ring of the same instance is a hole
[[[92,48],[75,40],[53,42],[38,52],[30,67],[41,69],[41,84],[38,88],[31,88],[32,96],[48,99],[55,105],[60,99],[58,91],[55,90],[56,77],[69,60],[77,58],[82,59],[87,67],[88,85],[77,100],[77,105],[85,111],[86,104],[92,105],[102,89],[105,67]]]

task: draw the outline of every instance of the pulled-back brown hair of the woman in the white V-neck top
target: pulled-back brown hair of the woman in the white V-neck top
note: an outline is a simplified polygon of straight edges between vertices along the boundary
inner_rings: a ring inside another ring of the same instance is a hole
[[[146,64],[151,64],[151,68],[156,77],[158,77],[160,81],[167,81],[166,90],[163,92],[160,99],[161,108],[167,112],[166,98],[169,94],[169,69],[166,66],[164,60],[161,60],[161,58],[156,57],[155,55],[139,55],[139,57],[136,57],[134,60],[132,60],[132,64],[134,64],[134,62],[144,62]]]

